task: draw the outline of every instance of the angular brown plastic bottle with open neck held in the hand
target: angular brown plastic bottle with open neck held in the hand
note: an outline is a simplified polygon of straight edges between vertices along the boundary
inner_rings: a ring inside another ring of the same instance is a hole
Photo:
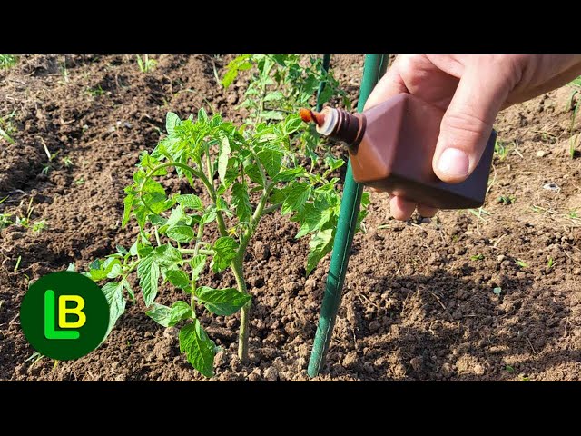
[[[466,209],[484,203],[497,136],[494,130],[468,179],[445,183],[432,169],[444,115],[438,107],[411,94],[398,94],[362,114],[329,107],[321,114],[324,122],[317,131],[348,145],[356,182],[438,209]]]

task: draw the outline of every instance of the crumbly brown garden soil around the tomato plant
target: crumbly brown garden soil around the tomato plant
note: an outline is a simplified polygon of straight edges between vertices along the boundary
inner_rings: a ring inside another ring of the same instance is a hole
[[[47,224],[40,232],[0,231],[0,380],[205,380],[179,352],[176,331],[148,318],[141,301],[128,304],[101,348],[56,366],[27,361],[34,350],[18,319],[30,281],[72,262],[83,269],[133,242],[136,227],[120,226],[123,187],[141,151],[157,144],[166,112],[187,116],[203,105],[241,120],[245,78],[223,90],[214,75],[231,56],[153,57],[158,64],[147,74],[129,55],[22,56],[0,71],[0,117],[15,111],[0,124],[9,123],[15,140],[0,139],[0,200],[7,197],[0,214],[25,216],[32,199],[30,220]],[[333,58],[354,103],[362,59]],[[330,352],[315,380],[581,380],[581,159],[568,154],[581,117],[572,128],[571,91],[499,114],[508,153],[495,156],[479,216],[451,211],[400,223],[389,217],[387,197],[372,193],[367,233],[355,238]],[[305,278],[308,245],[296,231],[277,213],[251,243],[251,362],[236,358],[238,316],[202,316],[223,348],[212,380],[309,380],[329,256]],[[179,295],[162,288],[158,300]]]

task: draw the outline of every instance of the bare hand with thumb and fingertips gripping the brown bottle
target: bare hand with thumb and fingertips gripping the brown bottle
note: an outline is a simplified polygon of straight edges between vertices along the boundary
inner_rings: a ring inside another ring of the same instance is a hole
[[[571,82],[580,54],[400,54],[375,87],[366,109],[395,94],[414,94],[446,111],[432,161],[447,183],[464,181],[477,166],[497,114]],[[389,195],[391,214],[407,220],[437,211]]]

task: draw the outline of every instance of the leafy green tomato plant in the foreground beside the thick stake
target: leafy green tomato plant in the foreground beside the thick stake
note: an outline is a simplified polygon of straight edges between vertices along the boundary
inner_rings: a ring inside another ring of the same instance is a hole
[[[204,109],[187,119],[167,114],[167,135],[151,153],[143,152],[133,183],[124,190],[122,225],[137,223],[135,242],[86,272],[105,282],[109,331],[124,312],[125,295],[135,298],[128,276],[136,272],[146,313],[164,327],[179,327],[180,350],[195,369],[211,377],[217,351],[200,311],[222,316],[240,311],[238,354],[242,362],[248,359],[251,295],[243,262],[261,218],[280,210],[299,223],[297,238],[310,235],[309,274],[330,252],[339,216],[339,179],[331,174],[344,162],[327,154],[316,172],[307,168],[297,146],[306,127],[295,109],[283,117],[262,112],[241,125]],[[168,193],[160,182],[175,176],[186,182],[185,193]],[[365,196],[364,206],[368,203]],[[364,216],[365,210],[359,222]],[[204,282],[204,272],[228,269],[236,288],[214,289]],[[163,283],[186,298],[171,306],[156,302]]]

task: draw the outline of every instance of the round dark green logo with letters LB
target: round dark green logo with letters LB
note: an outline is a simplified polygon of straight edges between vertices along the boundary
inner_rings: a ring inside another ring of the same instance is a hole
[[[34,350],[59,361],[92,352],[109,326],[101,288],[78,272],[53,272],[34,282],[20,306],[20,325]]]

